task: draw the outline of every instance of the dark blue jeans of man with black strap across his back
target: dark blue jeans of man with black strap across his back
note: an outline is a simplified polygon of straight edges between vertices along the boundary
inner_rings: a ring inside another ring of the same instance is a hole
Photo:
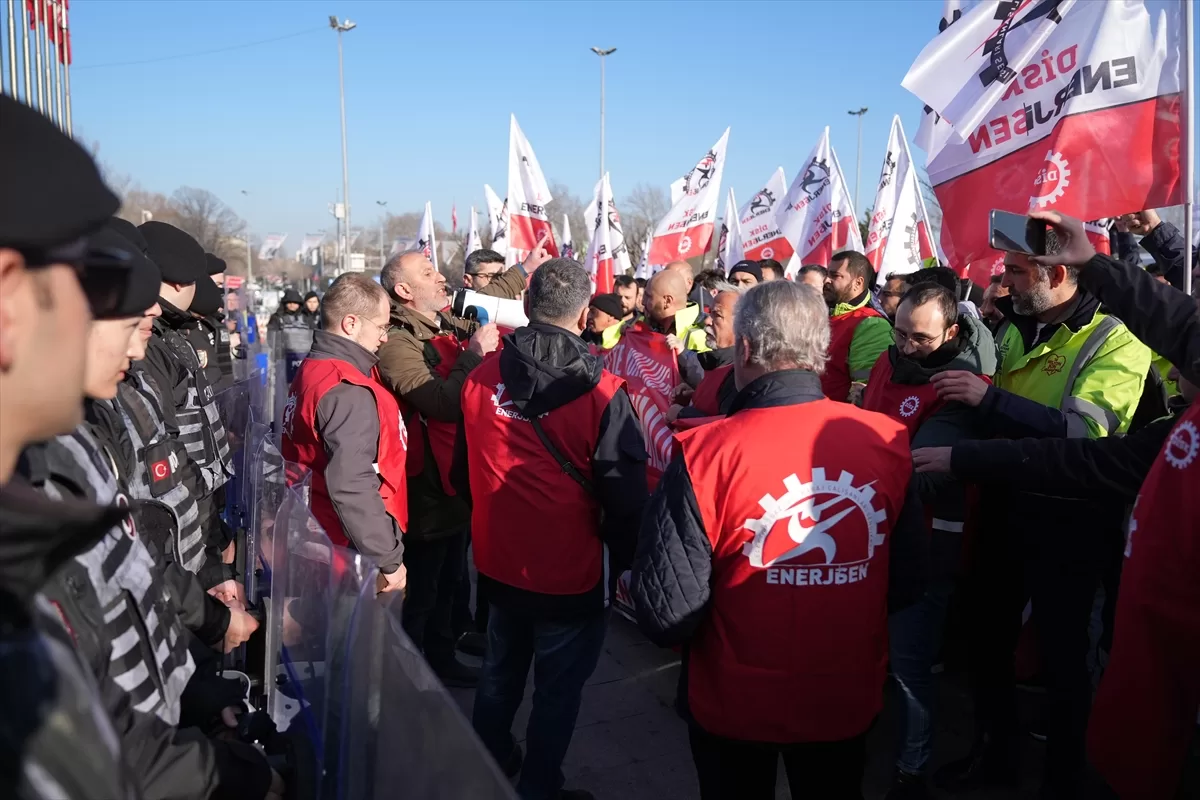
[[[580,715],[583,684],[600,661],[607,621],[607,610],[558,621],[491,607],[472,723],[503,764],[512,754],[512,718],[533,662],[533,712],[517,783],[523,800],[554,798],[563,788],[563,758]]]

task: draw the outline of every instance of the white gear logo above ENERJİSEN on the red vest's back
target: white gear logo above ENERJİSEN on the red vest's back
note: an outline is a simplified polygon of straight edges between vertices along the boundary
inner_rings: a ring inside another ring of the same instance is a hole
[[[769,567],[814,551],[823,557],[817,565],[858,564],[869,561],[883,543],[878,525],[887,512],[871,504],[875,488],[870,483],[854,486],[853,474],[844,470],[830,481],[824,469],[814,467],[810,482],[792,473],[784,479],[784,489],[779,498],[764,494],[758,500],[762,516],[743,525],[754,534],[742,548],[750,566]],[[772,536],[785,519],[787,536]]]

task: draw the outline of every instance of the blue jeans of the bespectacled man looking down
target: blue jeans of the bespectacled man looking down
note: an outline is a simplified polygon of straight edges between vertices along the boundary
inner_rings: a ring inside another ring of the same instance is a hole
[[[942,646],[946,608],[954,591],[949,576],[929,582],[914,604],[888,618],[892,678],[900,688],[900,750],[896,766],[919,775],[929,763],[934,739],[934,676],[930,670]]]

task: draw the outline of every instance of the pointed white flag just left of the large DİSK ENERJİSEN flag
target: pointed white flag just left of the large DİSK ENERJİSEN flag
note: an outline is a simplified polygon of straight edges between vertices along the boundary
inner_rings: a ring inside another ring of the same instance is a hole
[[[892,119],[865,245],[880,285],[886,276],[914,272],[934,257],[932,227],[899,115]]]

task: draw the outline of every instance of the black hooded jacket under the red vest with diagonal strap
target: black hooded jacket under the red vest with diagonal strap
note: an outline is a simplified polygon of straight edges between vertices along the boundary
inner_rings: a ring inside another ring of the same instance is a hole
[[[533,417],[587,395],[604,373],[599,357],[588,353],[578,336],[556,325],[532,323],[504,337],[499,354],[500,377],[522,415]],[[547,452],[546,458],[552,456]],[[592,486],[604,512],[600,537],[612,559],[611,581],[632,563],[637,529],[649,491],[646,483],[646,441],[629,395],[617,392],[600,417],[595,453],[592,457]],[[469,501],[467,438],[458,426],[450,480]],[[536,509],[530,509],[530,519]],[[536,524],[536,523],[533,523]],[[486,581],[485,576],[480,576]],[[488,600],[512,610],[570,616],[604,607],[605,587],[583,595],[553,596],[523,591],[488,582]],[[610,593],[611,594],[611,593]]]

